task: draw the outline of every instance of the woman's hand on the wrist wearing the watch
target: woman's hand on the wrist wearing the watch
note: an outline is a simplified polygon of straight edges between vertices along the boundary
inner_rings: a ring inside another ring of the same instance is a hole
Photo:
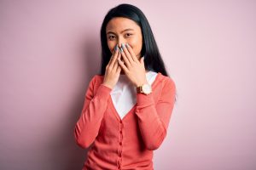
[[[125,44],[122,44],[122,48],[123,51],[121,50],[121,56],[124,61],[122,61],[120,57],[118,61],[120,67],[125,72],[125,75],[136,87],[147,83],[144,57],[138,60],[136,54],[134,54],[133,49],[128,43],[126,43],[126,46]]]

